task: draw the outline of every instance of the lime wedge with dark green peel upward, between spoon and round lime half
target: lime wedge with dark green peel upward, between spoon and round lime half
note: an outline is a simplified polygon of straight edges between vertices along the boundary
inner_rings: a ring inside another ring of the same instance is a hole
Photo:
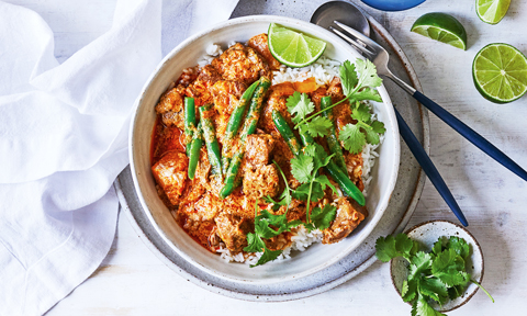
[[[426,13],[412,25],[412,32],[467,49],[467,32],[461,23],[446,13]]]

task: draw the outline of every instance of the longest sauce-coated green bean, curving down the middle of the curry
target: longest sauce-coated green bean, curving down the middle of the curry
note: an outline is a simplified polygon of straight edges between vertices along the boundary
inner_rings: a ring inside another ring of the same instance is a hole
[[[255,81],[253,84],[245,90],[242,98],[239,98],[238,104],[234,109],[231,117],[228,117],[227,128],[225,131],[225,136],[223,137],[223,148],[222,148],[222,171],[225,176],[227,173],[227,168],[231,162],[231,150],[233,148],[233,140],[238,134],[239,125],[242,124],[242,119],[244,119],[245,108],[250,102],[253,93],[255,92],[256,87],[260,81]]]

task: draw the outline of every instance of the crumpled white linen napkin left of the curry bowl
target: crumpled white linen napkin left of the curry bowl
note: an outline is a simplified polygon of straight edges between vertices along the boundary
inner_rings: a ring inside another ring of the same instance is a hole
[[[42,315],[99,267],[134,101],[162,55],[228,19],[237,0],[222,2],[119,0],[61,65],[44,20],[0,2],[0,315]]]

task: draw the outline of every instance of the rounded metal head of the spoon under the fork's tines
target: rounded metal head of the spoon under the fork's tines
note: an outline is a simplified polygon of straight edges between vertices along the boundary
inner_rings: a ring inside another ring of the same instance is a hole
[[[333,21],[340,21],[344,24],[359,31],[370,37],[370,23],[365,14],[351,3],[344,1],[329,1],[315,10],[311,16],[311,23],[322,26],[326,30],[335,26]]]

